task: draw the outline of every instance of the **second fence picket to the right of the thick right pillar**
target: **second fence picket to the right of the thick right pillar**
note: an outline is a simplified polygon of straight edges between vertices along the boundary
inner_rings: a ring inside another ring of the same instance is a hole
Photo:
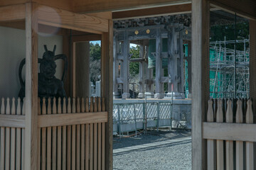
[[[223,102],[221,99],[218,100],[218,109],[216,113],[216,122],[223,123]],[[224,146],[223,140],[216,140],[216,162],[217,169],[224,169]]]

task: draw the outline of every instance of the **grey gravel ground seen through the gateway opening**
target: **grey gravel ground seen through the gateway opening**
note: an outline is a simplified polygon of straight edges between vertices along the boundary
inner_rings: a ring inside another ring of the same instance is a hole
[[[191,132],[149,130],[137,137],[114,137],[113,147],[119,149],[188,136]],[[191,169],[191,140],[113,154],[113,164],[115,170]]]

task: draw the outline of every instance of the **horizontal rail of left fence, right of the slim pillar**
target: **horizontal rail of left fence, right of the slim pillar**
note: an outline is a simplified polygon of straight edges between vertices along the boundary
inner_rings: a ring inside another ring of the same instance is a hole
[[[107,122],[107,112],[38,115],[39,128],[105,122]]]

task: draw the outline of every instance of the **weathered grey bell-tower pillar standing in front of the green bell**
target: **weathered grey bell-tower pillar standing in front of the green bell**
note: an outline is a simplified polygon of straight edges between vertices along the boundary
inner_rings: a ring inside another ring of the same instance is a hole
[[[164,93],[161,88],[161,69],[161,33],[160,28],[156,28],[156,94],[154,95],[154,98],[164,98]]]

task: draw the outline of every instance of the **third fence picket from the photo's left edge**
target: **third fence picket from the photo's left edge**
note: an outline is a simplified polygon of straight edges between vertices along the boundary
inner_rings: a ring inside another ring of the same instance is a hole
[[[15,98],[11,102],[11,115],[16,114]],[[11,170],[15,169],[16,128],[11,128]]]

